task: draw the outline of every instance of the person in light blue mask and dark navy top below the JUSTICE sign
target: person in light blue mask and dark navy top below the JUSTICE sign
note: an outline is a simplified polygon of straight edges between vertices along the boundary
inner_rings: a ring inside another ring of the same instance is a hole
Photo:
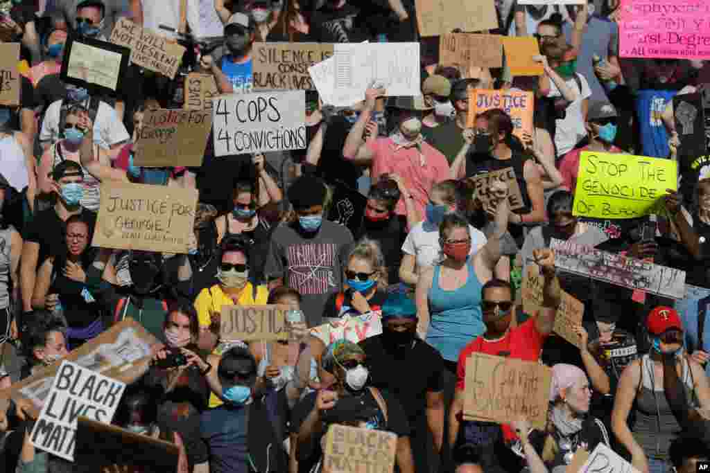
[[[210,472],[288,471],[288,456],[273,446],[283,439],[275,434],[262,404],[256,360],[246,347],[232,347],[216,371],[224,404],[204,411],[200,419]]]

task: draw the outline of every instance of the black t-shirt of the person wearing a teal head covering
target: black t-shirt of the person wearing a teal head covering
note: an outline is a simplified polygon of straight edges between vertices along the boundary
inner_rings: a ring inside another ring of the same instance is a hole
[[[391,392],[402,404],[410,425],[416,425],[415,421],[425,415],[427,392],[444,389],[442,356],[419,339],[405,350],[386,346],[383,335],[366,338],[359,345],[367,355],[370,384]]]

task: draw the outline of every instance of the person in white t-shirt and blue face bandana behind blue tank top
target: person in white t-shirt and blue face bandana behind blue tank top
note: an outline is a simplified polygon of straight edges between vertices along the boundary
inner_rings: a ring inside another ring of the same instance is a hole
[[[439,226],[444,217],[459,210],[457,182],[447,180],[437,182],[430,191],[430,201],[425,208],[425,220],[410,230],[402,245],[402,265],[399,276],[402,282],[415,286],[420,274],[434,266],[441,259],[441,238]],[[470,254],[473,255],[486,244],[486,235],[469,225],[471,238]]]

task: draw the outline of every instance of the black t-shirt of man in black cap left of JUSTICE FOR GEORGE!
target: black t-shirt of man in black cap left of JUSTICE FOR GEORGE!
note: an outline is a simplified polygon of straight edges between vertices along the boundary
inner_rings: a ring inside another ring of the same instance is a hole
[[[82,208],[82,220],[89,226],[89,241],[94,236],[96,226],[96,213]],[[40,245],[38,267],[49,256],[64,257],[67,253],[67,243],[65,235],[67,223],[62,221],[53,207],[40,211],[25,230],[24,239],[31,243]],[[88,252],[87,252],[88,253]]]

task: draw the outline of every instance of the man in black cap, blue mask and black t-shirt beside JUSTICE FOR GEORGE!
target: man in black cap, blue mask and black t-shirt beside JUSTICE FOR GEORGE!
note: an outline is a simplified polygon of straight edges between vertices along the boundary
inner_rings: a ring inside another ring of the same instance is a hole
[[[52,173],[54,193],[53,207],[38,212],[25,233],[20,263],[20,290],[23,310],[32,310],[32,294],[37,270],[50,255],[62,255],[66,251],[66,221],[72,215],[80,215],[89,226],[89,241],[96,225],[96,213],[81,206],[84,196],[84,172],[74,161],[60,162]],[[48,307],[51,310],[51,307]]]

